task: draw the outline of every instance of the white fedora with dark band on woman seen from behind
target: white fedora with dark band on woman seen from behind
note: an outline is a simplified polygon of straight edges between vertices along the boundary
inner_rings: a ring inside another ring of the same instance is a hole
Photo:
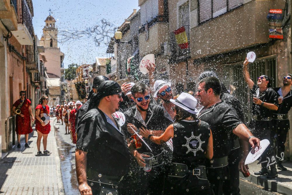
[[[170,101],[175,104],[176,106],[183,108],[185,111],[197,114],[198,110],[196,109],[197,106],[197,99],[188,93],[181,93],[177,99],[170,99]]]

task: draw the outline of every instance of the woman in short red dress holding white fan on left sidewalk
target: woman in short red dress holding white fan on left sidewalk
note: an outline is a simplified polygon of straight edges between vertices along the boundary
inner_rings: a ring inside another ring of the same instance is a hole
[[[48,104],[48,96],[42,96],[39,100],[39,105],[36,106],[36,130],[37,130],[37,140],[36,140],[36,146],[37,146],[37,155],[43,154],[41,152],[41,138],[43,138],[43,145],[44,145],[44,154],[50,154],[51,152],[47,150],[47,138],[48,133],[51,131],[51,125],[50,121],[48,124],[45,123],[41,119],[41,114],[46,114],[47,116],[50,116],[50,108],[47,105]]]

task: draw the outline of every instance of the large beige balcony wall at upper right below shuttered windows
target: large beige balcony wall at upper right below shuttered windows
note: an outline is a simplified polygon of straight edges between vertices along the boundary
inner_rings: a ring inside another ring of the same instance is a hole
[[[192,28],[191,57],[198,59],[270,42],[267,14],[273,7],[285,7],[285,1],[250,1]]]

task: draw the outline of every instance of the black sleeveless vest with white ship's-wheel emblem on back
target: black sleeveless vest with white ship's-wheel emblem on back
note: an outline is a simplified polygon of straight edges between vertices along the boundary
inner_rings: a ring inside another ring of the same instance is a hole
[[[201,121],[182,120],[173,124],[173,163],[187,165],[195,168],[205,165],[205,156],[208,140],[210,137],[210,126]]]

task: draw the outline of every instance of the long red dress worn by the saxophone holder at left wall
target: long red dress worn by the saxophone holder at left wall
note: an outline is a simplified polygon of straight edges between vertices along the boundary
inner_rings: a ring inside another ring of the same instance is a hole
[[[23,100],[23,104],[22,107],[20,108],[21,110],[21,114],[24,115],[24,117],[21,117],[20,115],[16,115],[16,121],[15,121],[15,131],[16,134],[18,135],[25,135],[25,134],[29,134],[32,132],[32,126],[30,123],[30,115],[29,115],[29,106],[31,104],[31,102],[29,101],[29,99],[24,99]],[[21,103],[20,99],[15,101],[15,103],[13,104],[13,106],[15,106],[15,108],[17,108],[17,106]]]

